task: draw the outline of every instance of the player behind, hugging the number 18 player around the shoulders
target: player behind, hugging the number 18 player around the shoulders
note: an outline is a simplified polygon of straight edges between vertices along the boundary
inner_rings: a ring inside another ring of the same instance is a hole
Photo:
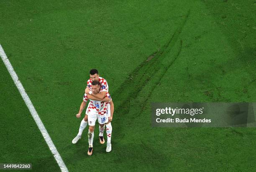
[[[100,82],[100,92],[97,94],[94,94],[92,92],[91,86],[92,86],[92,81],[99,81]],[[97,100],[97,101],[105,101],[106,102],[106,106],[107,106],[107,115],[108,117],[110,117],[110,104],[108,103],[108,101],[110,101],[111,99],[105,98],[105,95],[108,92],[108,82],[99,76],[99,73],[97,71],[97,69],[92,69],[90,71],[90,79],[87,81],[87,88],[85,89],[85,93],[87,94],[87,97],[89,99],[92,100]],[[89,106],[87,106],[86,112],[88,111]],[[80,117],[81,114],[77,114],[77,116]],[[78,142],[79,139],[81,139],[82,136],[82,132],[83,130],[86,128],[88,124],[88,116],[87,114],[85,114],[84,119],[82,119],[81,124],[80,124],[80,129],[79,129],[79,133],[77,134],[77,136],[72,140],[73,144],[76,144]],[[112,129],[111,123],[108,124],[108,128],[107,129]],[[104,133],[104,129],[105,129],[105,125],[104,126],[99,126],[99,130],[100,130],[100,134],[99,134],[99,140],[100,140],[100,144],[104,144],[105,140],[103,137],[103,133]]]

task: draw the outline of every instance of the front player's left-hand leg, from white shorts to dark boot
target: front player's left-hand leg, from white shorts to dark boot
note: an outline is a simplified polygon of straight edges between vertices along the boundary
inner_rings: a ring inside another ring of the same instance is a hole
[[[88,148],[88,155],[92,155],[93,151],[93,137],[94,137],[94,128],[95,128],[95,122],[97,119],[97,115],[90,113],[88,114],[88,121],[89,122],[89,131],[88,131],[88,143],[89,143],[89,148]]]

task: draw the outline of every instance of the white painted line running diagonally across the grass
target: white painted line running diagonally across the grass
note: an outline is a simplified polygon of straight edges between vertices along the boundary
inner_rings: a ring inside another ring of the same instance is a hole
[[[51,137],[49,136],[46,128],[44,127],[44,124],[42,123],[40,117],[38,116],[35,107],[33,106],[31,100],[28,97],[28,94],[26,93],[24,87],[22,86],[16,72],[13,69],[13,66],[11,65],[9,59],[7,58],[2,46],[0,45],[0,56],[5,63],[6,68],[8,69],[10,76],[13,78],[13,81],[15,85],[17,86],[18,90],[20,91],[20,94],[25,101],[26,105],[28,106],[28,109],[33,116],[33,119],[36,121],[36,125],[40,129],[40,132],[42,133],[46,143],[48,144],[51,153],[54,155],[54,158],[56,159],[57,163],[59,164],[59,167],[62,172],[68,172],[68,169],[66,165],[64,164],[59,152],[57,151],[56,147],[54,146],[54,143],[51,140]]]

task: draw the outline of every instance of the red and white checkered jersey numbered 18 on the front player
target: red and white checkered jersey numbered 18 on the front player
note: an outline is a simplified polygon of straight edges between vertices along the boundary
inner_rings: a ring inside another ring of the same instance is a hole
[[[107,93],[105,95],[105,97],[111,98],[109,93]],[[87,94],[84,94],[83,101],[85,101],[85,102],[88,101]],[[106,110],[107,110],[106,103],[103,101],[97,101],[97,100],[90,99],[90,103],[88,106],[89,106],[88,111],[98,112],[98,114],[100,114],[100,115],[105,114]]]

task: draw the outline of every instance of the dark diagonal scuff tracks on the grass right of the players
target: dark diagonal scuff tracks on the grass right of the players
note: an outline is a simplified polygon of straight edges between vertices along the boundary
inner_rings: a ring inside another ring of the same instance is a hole
[[[128,76],[128,78],[120,85],[120,88],[116,90],[116,92],[113,94],[113,97],[115,97],[116,94],[122,94],[122,100],[120,101],[120,106],[117,106],[115,109],[115,112],[118,114],[127,114],[131,100],[137,98],[138,94],[143,89],[142,86],[145,87],[149,81],[152,81],[154,84],[149,86],[150,91],[148,91],[145,99],[143,99],[143,102],[138,102],[136,104],[139,105],[139,114],[144,110],[147,103],[146,101],[148,101],[148,98],[156,88],[155,86],[161,81],[161,78],[163,78],[166,71],[176,61],[182,50],[182,40],[180,40],[180,46],[177,50],[177,53],[175,53],[176,51],[173,50],[173,47],[178,41],[179,35],[182,32],[184,25],[187,23],[189,15],[190,10],[187,11],[187,15],[184,16],[181,24],[174,31],[168,42],[162,46],[159,51],[152,53],[151,56],[149,56],[137,68],[135,68]],[[171,50],[173,57],[166,56]],[[143,107],[141,107],[141,104],[143,104]]]

